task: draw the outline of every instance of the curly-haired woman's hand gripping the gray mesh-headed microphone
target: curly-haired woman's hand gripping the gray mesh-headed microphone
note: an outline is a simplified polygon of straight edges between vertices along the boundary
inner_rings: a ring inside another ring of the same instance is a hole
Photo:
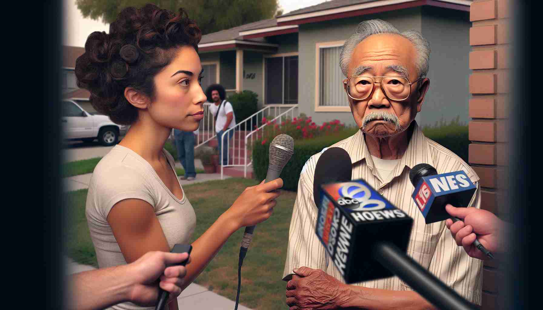
[[[277,204],[275,199],[281,194],[278,188],[281,187],[283,187],[281,178],[247,187],[226,212],[236,220],[238,227],[264,222],[273,213],[273,208]]]

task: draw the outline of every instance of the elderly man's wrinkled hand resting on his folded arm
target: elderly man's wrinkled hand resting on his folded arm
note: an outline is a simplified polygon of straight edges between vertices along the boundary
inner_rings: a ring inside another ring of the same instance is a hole
[[[320,269],[300,267],[287,282],[289,310],[336,309],[349,299],[349,288]]]

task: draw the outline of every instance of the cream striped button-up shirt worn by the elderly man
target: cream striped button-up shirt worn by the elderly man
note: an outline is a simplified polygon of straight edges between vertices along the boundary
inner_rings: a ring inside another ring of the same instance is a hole
[[[456,245],[451,232],[445,226],[445,221],[425,224],[422,213],[411,197],[414,187],[409,181],[409,171],[418,163],[428,163],[435,167],[438,173],[464,170],[477,186],[469,205],[477,208],[481,206],[479,178],[460,157],[426,138],[415,121],[413,121],[413,126],[413,135],[407,150],[388,176],[382,177],[374,168],[362,131],[357,131],[355,135],[331,147],[340,147],[349,153],[352,162],[352,180],[364,179],[383,197],[413,218],[407,254],[447,286],[456,290],[460,296],[481,305],[483,262],[469,257],[462,246]],[[292,269],[306,266],[321,269],[345,283],[315,235],[318,210],[313,200],[313,174],[321,154],[311,156],[300,174],[298,194],[288,235],[288,252],[283,271],[285,281],[292,279]],[[412,290],[396,276],[353,285],[388,290]]]

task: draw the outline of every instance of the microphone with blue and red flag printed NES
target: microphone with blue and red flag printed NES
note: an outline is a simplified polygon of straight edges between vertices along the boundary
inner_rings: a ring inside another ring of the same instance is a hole
[[[415,165],[409,172],[409,180],[415,187],[413,201],[424,216],[426,224],[440,222],[447,218],[456,223],[460,219],[451,217],[445,210],[446,204],[466,207],[477,187],[463,171],[438,174],[427,163]],[[475,239],[473,245],[490,258],[494,258],[481,242]]]

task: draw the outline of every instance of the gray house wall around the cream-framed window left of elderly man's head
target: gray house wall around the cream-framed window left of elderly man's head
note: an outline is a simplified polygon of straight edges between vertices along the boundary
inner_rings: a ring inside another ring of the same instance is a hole
[[[351,112],[315,112],[316,44],[319,42],[346,40],[355,33],[358,23],[374,18],[388,21],[400,31],[408,29],[421,30],[420,8],[301,24],[299,26],[298,104],[300,113],[312,116],[315,123],[321,124],[332,119],[339,119],[346,125],[355,125]],[[341,81],[337,81],[337,83],[341,83]],[[345,100],[347,100],[346,94]]]

